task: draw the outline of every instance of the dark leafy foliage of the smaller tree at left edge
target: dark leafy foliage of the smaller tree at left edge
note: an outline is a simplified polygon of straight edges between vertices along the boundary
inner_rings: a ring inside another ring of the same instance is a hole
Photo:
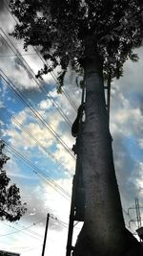
[[[26,203],[21,203],[20,190],[10,185],[10,177],[3,169],[10,159],[4,152],[5,144],[0,142],[0,219],[18,221],[26,213]]]

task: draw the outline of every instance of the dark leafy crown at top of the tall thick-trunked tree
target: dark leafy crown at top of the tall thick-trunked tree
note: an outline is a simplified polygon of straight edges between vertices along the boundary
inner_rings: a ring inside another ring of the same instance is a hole
[[[103,59],[105,78],[110,72],[118,79],[124,62],[138,59],[133,49],[143,38],[142,0],[10,0],[10,9],[19,20],[12,35],[50,60],[38,76],[60,65],[62,84],[69,63],[79,71],[87,36]]]

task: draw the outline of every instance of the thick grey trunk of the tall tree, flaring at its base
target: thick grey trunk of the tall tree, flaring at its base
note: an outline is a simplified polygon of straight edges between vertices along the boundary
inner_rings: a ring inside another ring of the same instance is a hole
[[[125,228],[112,159],[112,137],[104,96],[102,61],[89,39],[86,42],[83,67],[86,121],[78,156],[82,159],[86,208],[84,226],[73,255],[123,256],[127,255],[129,241],[132,244],[136,244],[136,241]]]

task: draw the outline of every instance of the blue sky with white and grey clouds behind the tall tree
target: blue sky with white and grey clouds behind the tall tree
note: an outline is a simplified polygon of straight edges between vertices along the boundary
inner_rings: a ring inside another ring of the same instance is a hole
[[[46,252],[66,253],[75,157],[71,125],[81,91],[74,72],[68,72],[65,93],[56,93],[56,75],[37,81],[43,60],[33,48],[24,52],[22,41],[9,33],[15,20],[7,1],[0,1],[0,125],[10,160],[11,182],[20,187],[28,212],[21,221],[0,221],[0,249],[22,256],[41,253],[47,214],[51,214]],[[135,233],[134,198],[143,206],[143,48],[137,63],[127,61],[124,77],[112,81],[111,132],[123,213]],[[142,214],[143,209],[140,209]],[[76,235],[80,224],[76,225]],[[53,245],[54,244],[54,245]]]

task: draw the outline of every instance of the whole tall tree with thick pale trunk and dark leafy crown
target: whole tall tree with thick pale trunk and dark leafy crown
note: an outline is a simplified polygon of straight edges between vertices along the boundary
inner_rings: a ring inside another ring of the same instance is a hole
[[[84,71],[86,121],[78,157],[86,209],[74,255],[141,255],[123,220],[103,78],[120,78],[124,62],[137,60],[133,49],[143,38],[142,0],[10,0],[10,8],[19,20],[12,35],[24,39],[26,50],[37,46],[48,60],[37,77],[60,66],[63,85],[69,65]]]

